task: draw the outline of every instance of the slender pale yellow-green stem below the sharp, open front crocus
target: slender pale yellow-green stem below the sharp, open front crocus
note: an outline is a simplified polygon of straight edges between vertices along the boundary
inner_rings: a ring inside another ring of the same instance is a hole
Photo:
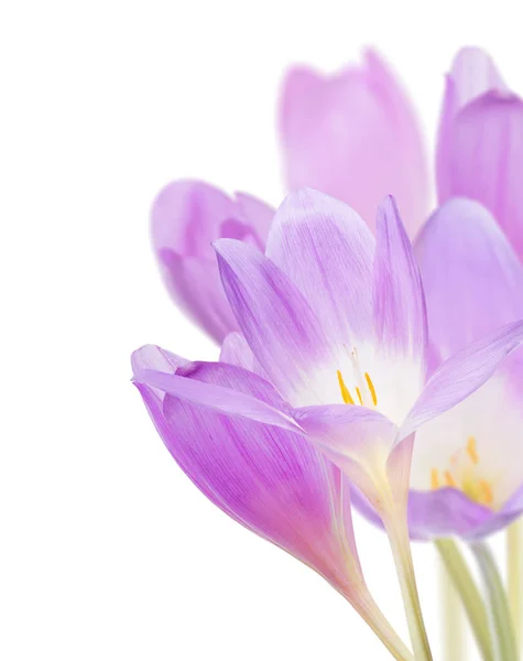
[[[389,535],[389,542],[391,544],[392,555],[394,556],[397,577],[400,579],[408,632],[414,650],[414,659],[416,661],[432,661],[431,646],[428,644],[420,596],[417,594],[406,517],[385,517],[383,518],[383,523]]]

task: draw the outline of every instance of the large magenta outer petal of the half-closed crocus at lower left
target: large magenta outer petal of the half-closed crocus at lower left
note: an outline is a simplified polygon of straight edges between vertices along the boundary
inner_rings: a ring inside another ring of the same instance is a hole
[[[255,380],[228,366],[196,366],[185,380],[193,378],[207,387],[226,382],[259,394]],[[336,469],[319,453],[295,434],[232,420],[168,394],[162,408],[146,386],[139,388],[168,451],[215,505],[350,596],[347,552],[356,546],[350,509],[341,502],[348,489],[339,473],[334,480]],[[358,566],[356,561],[353,571]]]

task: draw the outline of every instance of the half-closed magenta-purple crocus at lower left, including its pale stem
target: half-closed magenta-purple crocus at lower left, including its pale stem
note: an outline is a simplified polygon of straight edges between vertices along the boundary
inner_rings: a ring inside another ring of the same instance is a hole
[[[144,373],[175,375],[187,392],[195,384],[230,388],[237,397],[284,408],[262,378],[264,372],[243,337],[228,336],[220,362],[190,362],[145,346],[133,354],[132,367],[167,449],[207,498],[318,572],[352,604],[394,658],[412,659],[364,583],[352,529],[350,485],[339,468],[295,433],[224,414],[219,407],[195,405],[190,395],[174,397],[168,388],[149,386],[143,379]]]

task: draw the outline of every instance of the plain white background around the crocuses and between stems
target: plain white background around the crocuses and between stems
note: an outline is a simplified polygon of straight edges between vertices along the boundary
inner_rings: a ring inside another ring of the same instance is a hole
[[[455,51],[523,90],[517,2],[4,2],[0,657],[6,661],[386,659],[318,576],[215,509],[132,388],[144,343],[216,348],[171,304],[149,207],[177,177],[277,204],[286,66],[390,59],[433,144]],[[383,535],[363,563],[405,632]],[[415,552],[438,650],[433,551]]]

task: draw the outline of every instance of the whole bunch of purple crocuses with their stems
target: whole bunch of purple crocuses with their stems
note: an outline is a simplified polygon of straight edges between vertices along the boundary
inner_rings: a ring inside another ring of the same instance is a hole
[[[142,347],[134,383],[195,485],[324,576],[392,657],[432,659],[411,555],[424,540],[482,658],[516,661],[523,101],[487,54],[458,53],[431,215],[416,118],[375,53],[333,77],[292,69],[280,134],[276,210],[196,181],[157,196],[165,282],[221,351],[192,362]],[[408,643],[367,587],[352,508],[389,537]],[[506,581],[488,541],[502,529]]]

